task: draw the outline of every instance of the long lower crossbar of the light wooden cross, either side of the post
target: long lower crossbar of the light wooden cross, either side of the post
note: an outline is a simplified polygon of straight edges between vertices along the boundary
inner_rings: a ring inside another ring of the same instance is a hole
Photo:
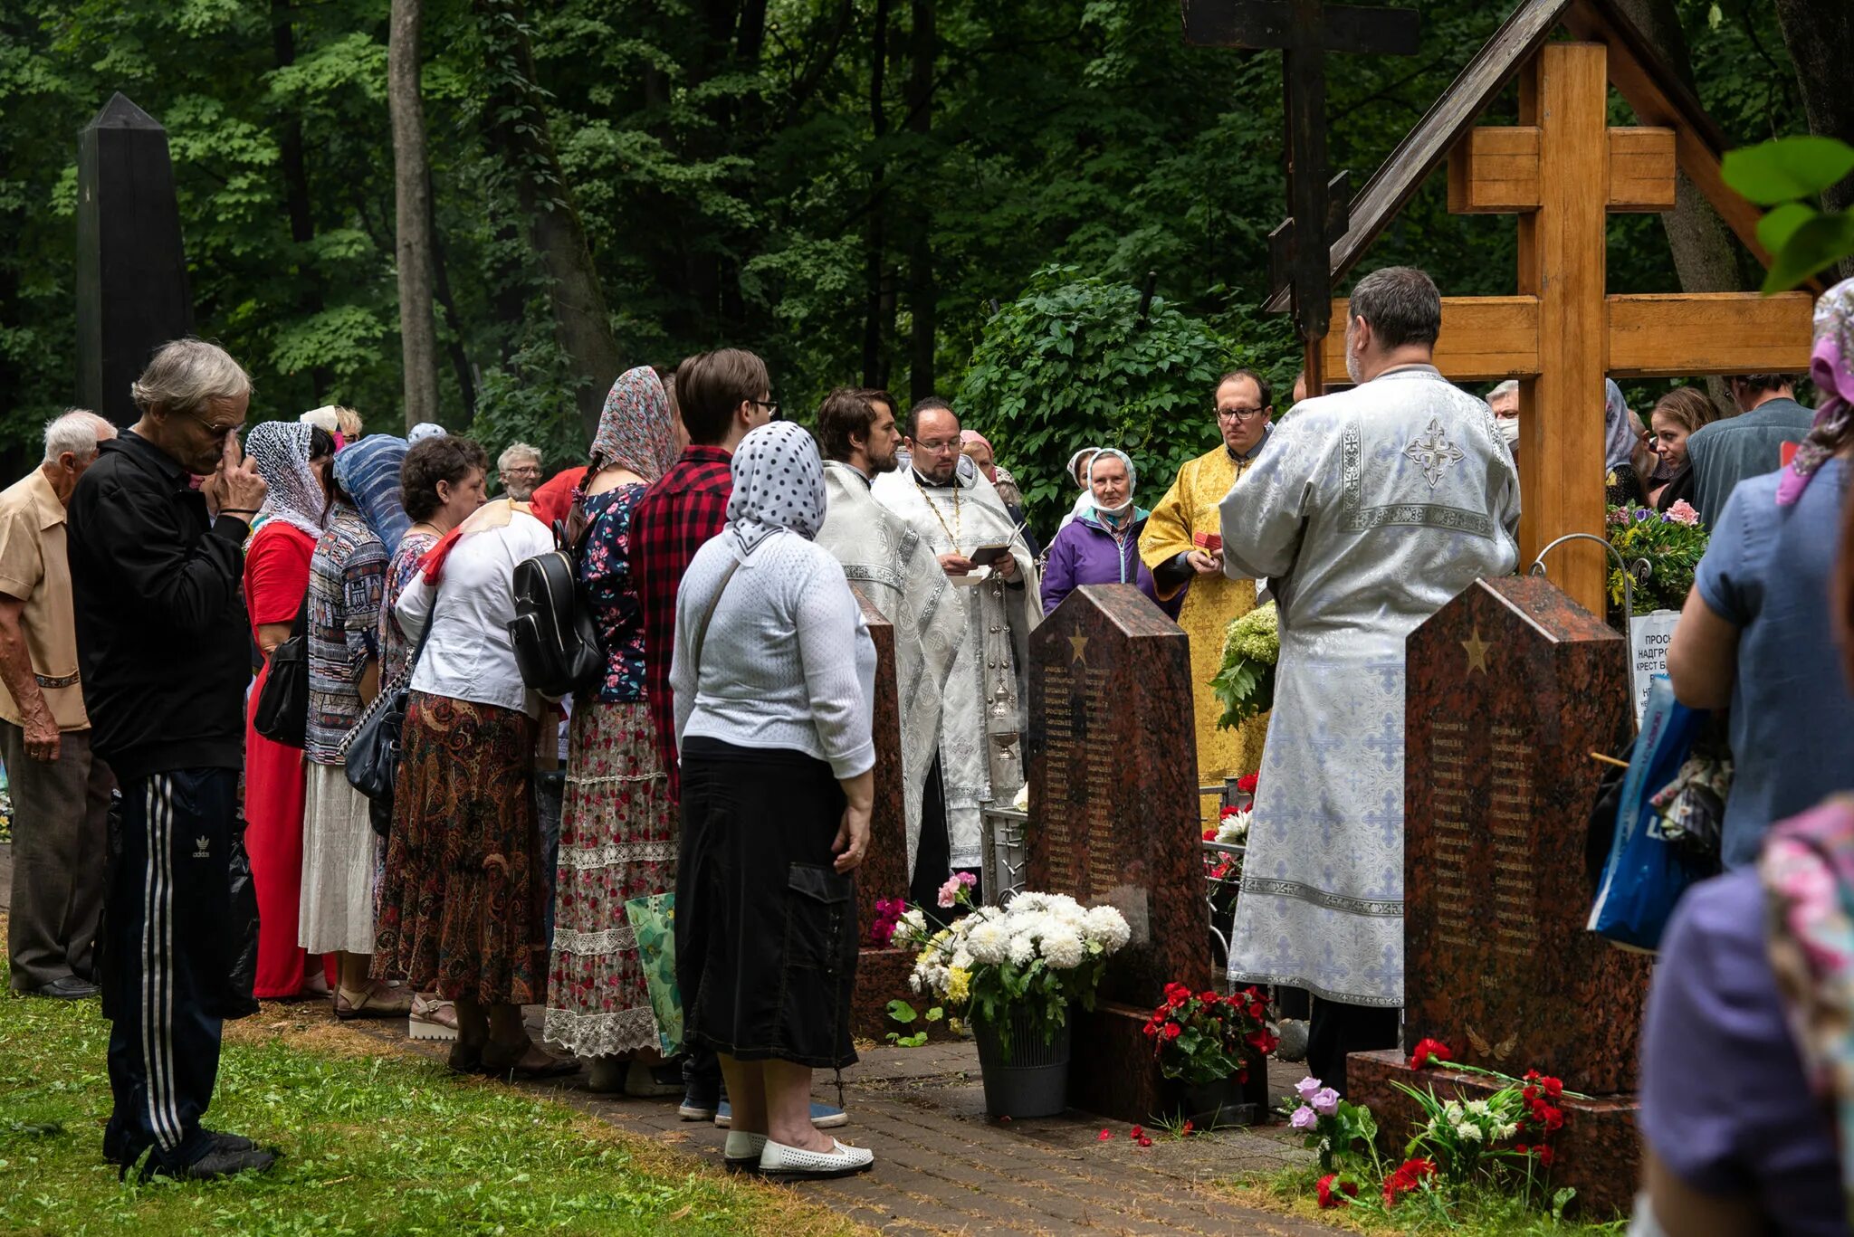
[[[1808,293],[1674,293],[1606,297],[1613,378],[1693,378],[1737,373],[1806,373],[1813,302]],[[1327,373],[1346,371],[1340,325],[1346,302],[1333,300],[1326,338]],[[1539,376],[1537,297],[1442,297],[1442,336],[1435,365],[1455,382]]]

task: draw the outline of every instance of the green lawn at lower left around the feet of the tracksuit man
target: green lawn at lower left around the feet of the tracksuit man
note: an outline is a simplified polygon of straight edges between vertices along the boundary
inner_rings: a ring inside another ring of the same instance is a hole
[[[119,1183],[96,1001],[0,1000],[0,1231],[80,1233],[851,1233],[788,1191],[730,1180],[562,1103],[365,1055],[271,1007],[228,1024],[208,1115],[282,1148],[215,1183]],[[300,1027],[300,1024],[297,1024]]]

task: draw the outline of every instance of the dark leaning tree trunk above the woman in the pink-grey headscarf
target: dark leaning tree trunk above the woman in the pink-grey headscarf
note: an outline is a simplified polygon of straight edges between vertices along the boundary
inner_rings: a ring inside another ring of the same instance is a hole
[[[578,375],[575,402],[586,432],[599,428],[604,395],[617,378],[617,339],[591,261],[573,189],[560,171],[547,109],[534,83],[534,50],[519,0],[475,0],[486,28],[489,141],[502,159],[528,221],[528,241],[547,273],[554,338]]]

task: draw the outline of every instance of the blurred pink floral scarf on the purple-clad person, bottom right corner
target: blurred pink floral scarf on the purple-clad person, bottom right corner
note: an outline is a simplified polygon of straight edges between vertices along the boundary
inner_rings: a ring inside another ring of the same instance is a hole
[[[1758,875],[1771,970],[1810,1087],[1835,1107],[1854,1215],[1854,799],[1772,825]]]

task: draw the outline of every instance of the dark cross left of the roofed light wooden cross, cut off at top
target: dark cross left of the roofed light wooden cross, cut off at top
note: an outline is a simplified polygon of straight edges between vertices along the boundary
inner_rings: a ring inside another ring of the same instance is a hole
[[[1281,48],[1287,85],[1290,223],[1270,236],[1274,278],[1294,289],[1294,323],[1307,352],[1307,391],[1324,380],[1320,339],[1331,325],[1329,252],[1348,226],[1344,174],[1326,169],[1326,54],[1416,54],[1416,13],[1361,9],[1324,0],[1181,0],[1185,43]]]

